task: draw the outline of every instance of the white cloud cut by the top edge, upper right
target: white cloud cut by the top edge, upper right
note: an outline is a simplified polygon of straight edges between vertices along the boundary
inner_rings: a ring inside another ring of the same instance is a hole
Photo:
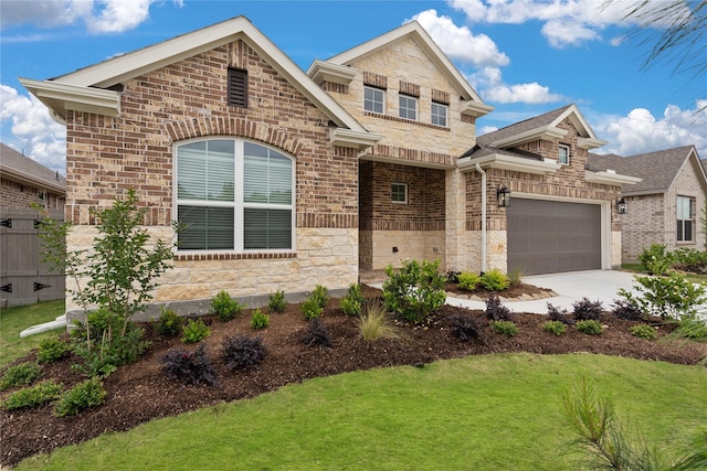
[[[553,47],[577,45],[601,38],[600,32],[612,24],[627,25],[625,15],[643,0],[621,0],[606,6],[601,0],[447,0],[447,4],[464,12],[471,22],[490,24],[542,23],[542,35]],[[648,8],[658,8],[648,6]]]

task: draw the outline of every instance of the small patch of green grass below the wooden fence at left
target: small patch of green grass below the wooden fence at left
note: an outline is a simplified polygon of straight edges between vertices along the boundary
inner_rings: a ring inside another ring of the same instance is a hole
[[[20,338],[24,329],[50,322],[65,312],[64,300],[39,302],[0,310],[0,368],[36,349],[42,339],[55,336],[65,329]]]

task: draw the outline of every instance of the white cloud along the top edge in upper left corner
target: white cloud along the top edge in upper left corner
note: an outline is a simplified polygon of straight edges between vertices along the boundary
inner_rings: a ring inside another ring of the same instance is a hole
[[[3,0],[1,26],[32,23],[54,28],[83,21],[92,33],[131,30],[149,18],[159,0]],[[183,0],[172,0],[178,7]]]

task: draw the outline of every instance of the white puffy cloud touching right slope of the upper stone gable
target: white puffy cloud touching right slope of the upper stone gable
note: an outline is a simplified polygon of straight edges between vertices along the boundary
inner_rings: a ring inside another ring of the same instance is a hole
[[[452,60],[477,67],[510,63],[508,56],[498,51],[496,43],[486,34],[474,34],[466,26],[457,26],[451,18],[437,17],[436,10],[422,11],[412,20],[416,20]]]

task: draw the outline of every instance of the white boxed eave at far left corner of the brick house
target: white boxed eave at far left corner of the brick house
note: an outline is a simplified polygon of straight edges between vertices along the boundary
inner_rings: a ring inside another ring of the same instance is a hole
[[[33,81],[30,78],[19,78],[19,81],[53,111],[54,117],[65,119],[66,110],[104,116],[120,115],[120,96],[116,92],[54,81]]]

